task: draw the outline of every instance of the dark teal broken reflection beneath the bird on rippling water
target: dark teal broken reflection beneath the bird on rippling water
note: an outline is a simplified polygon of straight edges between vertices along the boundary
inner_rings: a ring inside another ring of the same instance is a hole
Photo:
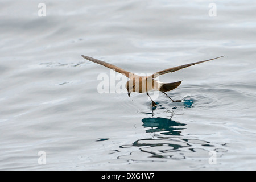
[[[119,155],[118,159],[135,162],[166,162],[166,159],[187,159],[188,163],[192,161],[191,165],[194,165],[196,160],[208,164],[209,151],[217,152],[218,157],[228,151],[225,144],[211,143],[190,135],[182,135],[181,131],[177,130],[185,129],[185,123],[162,117],[143,118],[142,122],[142,126],[150,128],[146,130],[146,133],[154,133],[154,137],[138,139],[133,144],[119,146],[122,150],[129,148],[129,155],[125,152],[126,154]],[[131,151],[133,147],[138,147],[139,150],[134,148]],[[120,151],[118,150],[118,152]]]

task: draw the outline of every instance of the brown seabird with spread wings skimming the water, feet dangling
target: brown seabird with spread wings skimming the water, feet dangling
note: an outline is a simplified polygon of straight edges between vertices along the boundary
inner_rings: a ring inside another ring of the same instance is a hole
[[[131,92],[146,93],[147,96],[152,101],[152,106],[155,107],[156,103],[152,100],[152,98],[150,97],[148,92],[150,92],[150,91],[160,91],[160,92],[166,94],[166,92],[177,88],[181,84],[181,81],[177,81],[177,82],[173,82],[173,83],[163,83],[163,82],[160,82],[158,80],[155,80],[155,78],[157,78],[160,75],[166,74],[166,73],[175,72],[175,71],[178,71],[178,70],[183,69],[183,68],[190,67],[190,66],[195,65],[195,64],[204,63],[206,61],[218,59],[218,58],[224,57],[224,56],[215,57],[213,59],[208,59],[208,60],[204,60],[204,61],[198,61],[198,62],[195,62],[195,63],[184,64],[184,65],[181,65],[181,66],[178,66],[178,67],[164,69],[164,70],[156,72],[156,73],[154,73],[150,76],[135,75],[134,73],[125,71],[124,69],[119,68],[119,67],[117,67],[113,64],[106,63],[106,62],[98,60],[98,59],[94,59],[93,57],[84,56],[84,55],[82,55],[82,57],[84,57],[84,59],[92,61],[94,63],[104,65],[107,68],[114,69],[114,71],[116,71],[118,73],[121,73],[122,75],[125,75],[126,77],[130,78],[130,80],[126,82],[126,89],[128,91],[128,96],[130,97]],[[168,98],[170,98],[170,100],[172,102],[181,102],[181,100],[172,100],[172,98],[169,97],[167,94],[166,94],[166,96]]]

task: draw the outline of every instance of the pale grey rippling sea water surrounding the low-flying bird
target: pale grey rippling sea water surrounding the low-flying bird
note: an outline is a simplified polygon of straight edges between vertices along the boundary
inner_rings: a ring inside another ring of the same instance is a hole
[[[40,2],[1,0],[1,170],[256,169],[254,1]],[[152,109],[98,93],[110,71],[81,54],[134,73],[225,57],[160,76],[184,102]]]

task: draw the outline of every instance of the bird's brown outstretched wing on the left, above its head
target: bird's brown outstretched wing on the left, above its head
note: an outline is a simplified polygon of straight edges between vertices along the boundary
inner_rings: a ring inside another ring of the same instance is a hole
[[[106,63],[106,62],[98,60],[98,59],[94,59],[93,57],[89,57],[89,56],[82,55],[82,57],[84,57],[84,59],[92,61],[94,63],[104,65],[104,67],[107,67],[107,68],[110,68],[110,69],[114,69],[114,71],[116,71],[118,73],[121,73],[122,75],[125,75],[128,78],[133,78],[133,77],[136,76],[136,75],[134,75],[134,73],[127,72],[124,69],[119,68],[119,67],[117,67],[117,66],[115,66],[113,64],[109,64],[109,63]]]

